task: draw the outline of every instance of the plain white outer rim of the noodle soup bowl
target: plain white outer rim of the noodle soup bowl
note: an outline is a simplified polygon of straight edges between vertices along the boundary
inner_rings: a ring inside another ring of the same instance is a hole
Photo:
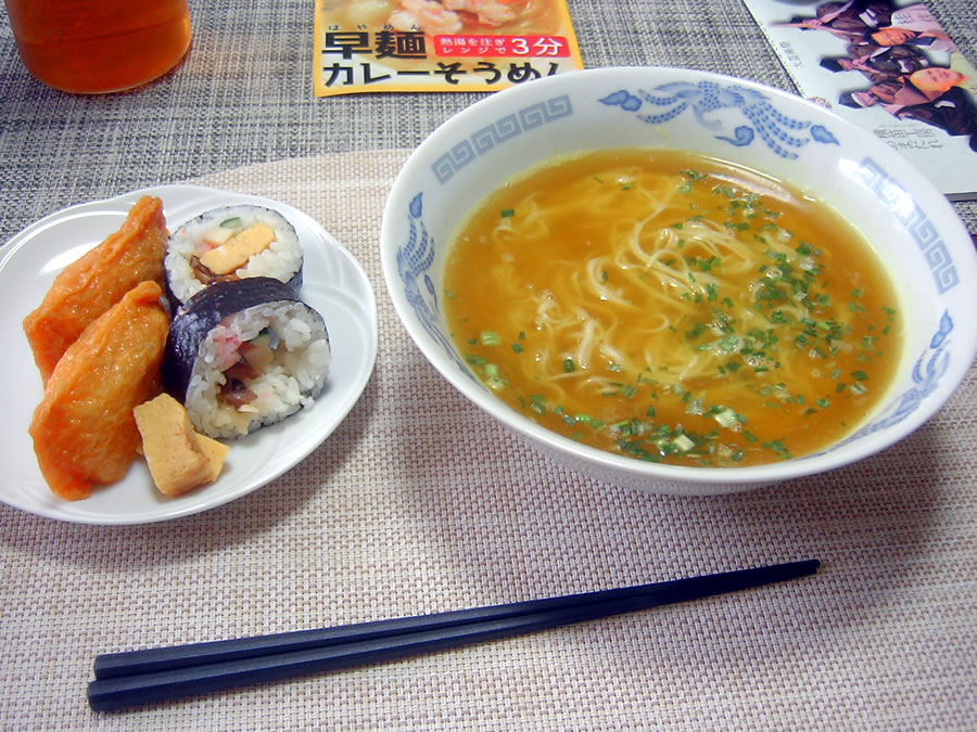
[[[830,452],[816,452],[809,455],[760,465],[707,467],[671,465],[667,463],[636,460],[634,458],[583,445],[538,425],[494,395],[490,394],[487,389],[480,384],[468,378],[460,370],[458,370],[456,364],[447,359],[440,350],[440,346],[428,336],[424,329],[415,321],[410,306],[407,303],[406,297],[401,293],[401,287],[398,287],[401,280],[397,275],[396,249],[399,247],[399,242],[395,234],[398,224],[394,223],[394,219],[406,206],[409,196],[416,191],[416,184],[411,181],[411,174],[419,168],[428,167],[431,159],[430,152],[435,149],[442,151],[444,149],[444,140],[455,139],[457,137],[454,134],[455,131],[470,129],[470,124],[472,121],[480,119],[484,120],[486,117],[491,118],[491,116],[486,114],[488,110],[493,110],[494,107],[506,108],[512,102],[537,95],[540,92],[545,93],[550,87],[559,88],[570,85],[570,88],[572,89],[576,84],[576,79],[600,77],[612,77],[619,80],[624,79],[624,77],[633,77],[635,80],[640,78],[648,82],[648,79],[656,74],[668,74],[670,75],[669,80],[675,80],[675,76],[680,75],[688,78],[736,84],[748,87],[764,94],[775,97],[778,101],[786,102],[790,105],[800,105],[807,112],[814,114],[815,116],[828,118],[833,125],[845,127],[847,132],[851,133],[857,141],[863,141],[864,144],[868,145],[870,150],[874,149],[883,151],[881,156],[886,159],[887,165],[891,162],[894,171],[901,174],[899,176],[900,180],[912,181],[912,184],[906,187],[906,190],[916,197],[925,196],[927,198],[927,206],[935,207],[930,218],[940,221],[944,241],[946,239],[950,239],[952,242],[948,243],[948,247],[951,249],[954,258],[961,258],[959,269],[964,271],[964,278],[961,285],[966,286],[968,279],[975,285],[969,292],[969,299],[974,301],[975,309],[977,309],[977,253],[975,253],[974,247],[967,249],[959,244],[959,242],[963,241],[966,241],[967,243],[970,242],[966,227],[951,203],[936,189],[929,179],[919,172],[918,169],[898,151],[886,145],[884,141],[875,137],[870,130],[858,127],[830,110],[803,99],[798,94],[748,79],[715,72],[681,67],[609,66],[573,70],[557,76],[536,79],[530,84],[510,87],[478,100],[460,110],[432,130],[403,164],[389,191],[383,207],[380,231],[381,269],[398,320],[407,331],[415,346],[418,347],[426,360],[431,363],[431,365],[433,365],[453,387],[460,391],[475,407],[487,412],[492,418],[502,423],[503,426],[519,433],[524,438],[528,438],[535,444],[544,446],[549,454],[566,455],[578,464],[581,461],[586,462],[588,465],[604,473],[626,473],[632,478],[644,480],[651,489],[655,488],[656,481],[678,481],[691,485],[769,485],[817,473],[825,473],[872,457],[873,454],[893,446],[918,429],[943,407],[946,401],[956,391],[966,377],[970,365],[974,363],[975,358],[977,358],[977,329],[962,329],[960,333],[957,333],[957,336],[963,335],[968,343],[957,343],[956,347],[953,349],[955,352],[961,354],[961,358],[954,359],[954,363],[948,368],[942,376],[942,384],[938,389],[938,391],[942,393],[942,396],[939,398],[928,398],[918,409],[896,425],[879,429],[871,435],[862,436],[855,442],[842,445],[841,447],[830,450]],[[461,137],[464,138],[466,136],[461,134]],[[953,235],[948,236],[947,234],[951,231],[953,232]],[[903,308],[903,310],[905,310],[905,308]],[[965,358],[967,352],[968,358]],[[908,362],[911,362],[911,359],[909,359]],[[891,401],[891,396],[889,397],[889,401]],[[865,424],[865,421],[863,420],[860,424]],[[845,437],[850,437],[857,429],[858,427],[846,433]],[[534,445],[534,447],[537,446]]]

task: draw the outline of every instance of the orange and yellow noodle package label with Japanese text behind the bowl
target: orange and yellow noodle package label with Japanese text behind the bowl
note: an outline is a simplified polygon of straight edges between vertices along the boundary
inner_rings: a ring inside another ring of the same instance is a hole
[[[583,68],[564,0],[316,0],[317,97],[497,91]]]

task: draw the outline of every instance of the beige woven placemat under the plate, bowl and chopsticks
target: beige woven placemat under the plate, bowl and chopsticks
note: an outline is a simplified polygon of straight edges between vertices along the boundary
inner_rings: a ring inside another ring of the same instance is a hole
[[[94,527],[0,506],[2,729],[973,729],[977,369],[926,426],[830,475],[649,496],[529,451],[399,325],[377,257],[407,151],[192,182],[308,213],[363,264],[380,349],[306,461],[228,505]],[[814,577],[531,637],[114,714],[94,654],[819,557]]]

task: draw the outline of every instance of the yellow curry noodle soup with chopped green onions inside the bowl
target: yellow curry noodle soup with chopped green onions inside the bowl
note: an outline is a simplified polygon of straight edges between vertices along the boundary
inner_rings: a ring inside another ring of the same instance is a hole
[[[601,151],[510,181],[457,232],[444,288],[459,352],[506,403],[680,465],[825,448],[901,354],[893,286],[850,224],[684,153]]]

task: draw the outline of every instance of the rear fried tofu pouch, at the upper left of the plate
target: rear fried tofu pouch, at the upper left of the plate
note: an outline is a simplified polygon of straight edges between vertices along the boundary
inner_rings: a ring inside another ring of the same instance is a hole
[[[140,282],[163,283],[168,237],[163,202],[142,196],[118,231],[55,278],[40,306],[24,319],[45,383],[89,323]]]

